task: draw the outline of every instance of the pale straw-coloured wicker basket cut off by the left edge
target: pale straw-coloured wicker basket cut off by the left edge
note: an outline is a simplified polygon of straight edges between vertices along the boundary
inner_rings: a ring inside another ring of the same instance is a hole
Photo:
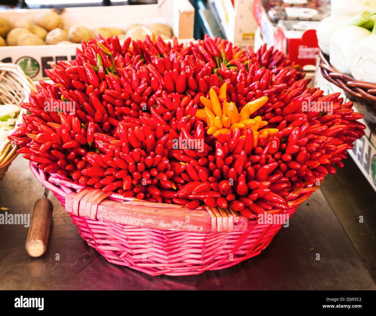
[[[21,102],[27,102],[32,90],[35,90],[35,86],[20,66],[0,62],[0,103],[19,105]],[[24,113],[26,110],[21,108],[16,125],[23,121],[22,114]],[[9,164],[16,158],[17,149],[18,146],[11,140],[5,141],[0,147],[0,181],[8,170]]]

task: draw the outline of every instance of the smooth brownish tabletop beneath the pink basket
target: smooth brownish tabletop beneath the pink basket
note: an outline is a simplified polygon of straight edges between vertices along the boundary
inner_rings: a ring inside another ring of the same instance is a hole
[[[107,262],[80,237],[50,193],[54,211],[42,257],[26,253],[28,228],[0,225],[0,289],[375,290],[376,194],[351,158],[345,164],[299,206],[289,227],[259,256],[194,276],[152,277]],[[30,214],[43,192],[18,156],[0,182],[0,212]]]

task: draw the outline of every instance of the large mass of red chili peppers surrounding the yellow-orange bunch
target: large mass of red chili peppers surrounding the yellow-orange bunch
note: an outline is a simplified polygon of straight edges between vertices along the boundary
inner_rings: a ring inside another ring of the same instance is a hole
[[[176,38],[98,40],[46,70],[54,83],[39,81],[22,104],[31,114],[10,136],[39,169],[76,184],[190,209],[230,207],[255,218],[288,209],[302,190],[343,167],[346,150],[364,135],[352,102],[307,88],[300,66],[273,47],[242,51],[209,36],[188,47]],[[251,118],[261,116],[277,134],[256,146],[251,129],[208,135],[196,111],[205,107],[200,98],[209,99],[211,88],[218,94],[224,83],[224,99],[239,112],[267,96]],[[60,102],[75,108],[45,107]],[[307,104],[330,106],[307,111]]]

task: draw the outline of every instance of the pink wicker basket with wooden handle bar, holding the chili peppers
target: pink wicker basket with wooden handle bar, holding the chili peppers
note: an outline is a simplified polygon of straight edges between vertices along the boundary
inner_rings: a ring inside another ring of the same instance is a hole
[[[193,275],[233,266],[261,253],[283,225],[248,220],[229,209],[190,210],[124,198],[46,174],[35,163],[30,169],[65,206],[89,246],[111,263],[150,275]],[[293,191],[285,214],[291,216],[317,188]]]

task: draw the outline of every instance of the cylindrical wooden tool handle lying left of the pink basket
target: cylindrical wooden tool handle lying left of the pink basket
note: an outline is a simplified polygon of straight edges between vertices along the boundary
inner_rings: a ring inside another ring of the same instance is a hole
[[[49,199],[42,198],[35,202],[25,245],[27,253],[32,257],[40,257],[46,251],[52,210]]]

